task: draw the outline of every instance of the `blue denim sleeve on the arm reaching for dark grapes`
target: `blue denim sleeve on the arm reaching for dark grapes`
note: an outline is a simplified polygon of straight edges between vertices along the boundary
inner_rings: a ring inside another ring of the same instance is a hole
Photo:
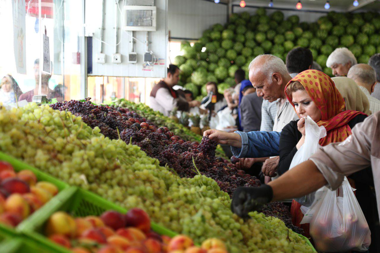
[[[241,148],[231,147],[237,158],[274,157],[279,155],[279,132],[251,131],[244,133],[235,131],[241,136]]]

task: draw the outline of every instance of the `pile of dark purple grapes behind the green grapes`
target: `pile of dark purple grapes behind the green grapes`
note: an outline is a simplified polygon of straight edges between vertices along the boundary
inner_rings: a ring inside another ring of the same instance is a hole
[[[173,169],[179,177],[202,174],[214,179],[222,191],[230,196],[239,186],[258,186],[256,177],[238,171],[228,161],[215,157],[217,143],[203,137],[201,143],[185,142],[166,127],[157,126],[128,109],[98,106],[90,102],[64,101],[51,105],[59,111],[69,111],[91,128],[96,126],[110,139],[122,139],[138,145],[149,157],[160,161],[161,166]],[[231,167],[231,168],[230,168]]]

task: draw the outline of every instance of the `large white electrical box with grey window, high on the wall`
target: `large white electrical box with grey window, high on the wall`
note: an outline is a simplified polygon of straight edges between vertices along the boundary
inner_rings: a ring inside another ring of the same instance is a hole
[[[155,32],[157,28],[156,6],[125,5],[124,26],[125,31]]]

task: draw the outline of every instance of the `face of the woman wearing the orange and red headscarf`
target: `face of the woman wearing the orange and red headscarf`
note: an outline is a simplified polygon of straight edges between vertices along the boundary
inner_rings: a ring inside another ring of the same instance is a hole
[[[292,102],[299,116],[310,116],[314,122],[318,122],[321,119],[321,111],[317,105],[307,94],[306,90],[297,90],[292,92]]]

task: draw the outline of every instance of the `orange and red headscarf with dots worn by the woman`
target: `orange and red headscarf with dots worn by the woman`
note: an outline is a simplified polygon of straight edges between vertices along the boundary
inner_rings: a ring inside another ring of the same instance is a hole
[[[286,89],[290,83],[295,81],[300,82],[305,87],[307,94],[321,111],[321,119],[316,123],[318,126],[324,126],[327,132],[327,135],[319,140],[321,146],[344,141],[351,135],[348,122],[357,115],[364,113],[345,111],[344,98],[328,75],[319,70],[305,70],[291,79],[285,87],[285,94],[293,107],[291,95],[287,94]]]

